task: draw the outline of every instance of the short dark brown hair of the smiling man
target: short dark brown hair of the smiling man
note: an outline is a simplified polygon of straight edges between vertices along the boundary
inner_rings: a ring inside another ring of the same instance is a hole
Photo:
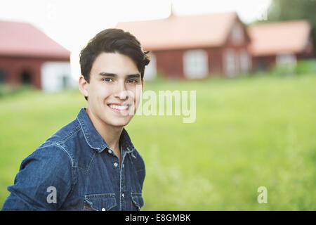
[[[92,65],[100,53],[121,53],[129,56],[140,71],[141,79],[144,77],[145,65],[150,63],[147,56],[149,51],[143,52],[140,42],[129,32],[124,30],[110,28],[103,30],[93,37],[84,49],[80,52],[81,75],[86,82],[90,82],[90,72]],[[86,100],[88,98],[85,96]]]

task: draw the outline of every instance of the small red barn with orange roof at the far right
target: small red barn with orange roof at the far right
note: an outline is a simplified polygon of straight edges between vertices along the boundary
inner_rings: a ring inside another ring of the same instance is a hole
[[[251,37],[249,50],[256,70],[314,56],[311,26],[306,20],[251,25],[248,32]]]

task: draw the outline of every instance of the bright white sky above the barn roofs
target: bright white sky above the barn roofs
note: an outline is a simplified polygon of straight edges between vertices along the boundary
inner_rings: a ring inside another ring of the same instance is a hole
[[[118,22],[175,15],[236,11],[244,23],[265,20],[271,0],[0,0],[0,20],[31,23],[72,52],[79,77],[79,52],[98,32]]]

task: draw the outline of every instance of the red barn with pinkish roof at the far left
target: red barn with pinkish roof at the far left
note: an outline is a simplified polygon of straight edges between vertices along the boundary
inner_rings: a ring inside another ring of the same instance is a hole
[[[58,89],[69,79],[70,51],[28,23],[0,21],[0,84]]]

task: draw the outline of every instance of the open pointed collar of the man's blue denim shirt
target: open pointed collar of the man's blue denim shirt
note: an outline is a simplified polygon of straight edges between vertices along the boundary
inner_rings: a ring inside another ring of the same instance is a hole
[[[84,139],[86,139],[86,143],[88,143],[90,148],[98,151],[98,153],[101,153],[103,150],[105,150],[105,148],[109,148],[103,137],[93,126],[90,117],[88,117],[88,114],[86,113],[86,108],[81,108],[77,115],[77,120],[79,121],[81,129],[84,132]],[[123,128],[121,131],[119,143],[122,150],[125,150],[127,153],[132,153],[135,149],[125,128]]]

